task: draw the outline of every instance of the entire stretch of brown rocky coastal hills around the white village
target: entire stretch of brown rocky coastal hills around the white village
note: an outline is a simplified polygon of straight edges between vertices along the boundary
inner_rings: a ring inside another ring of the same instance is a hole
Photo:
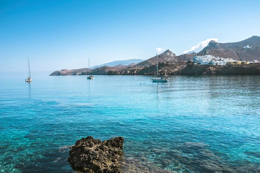
[[[244,48],[249,45],[248,48]],[[218,43],[210,41],[209,44],[197,55],[211,54],[218,57],[233,58],[236,60],[258,60],[260,61],[260,37],[252,36],[243,41],[234,43]],[[187,61],[196,55],[182,54],[176,56],[169,49],[158,55],[158,69],[161,74],[207,74],[206,71],[213,74],[258,74],[259,64],[241,65],[233,67],[212,67],[212,66],[189,66]],[[139,59],[140,60],[140,59]],[[156,56],[151,57],[139,63],[129,63],[129,61],[113,61],[113,66],[103,65],[91,70],[93,75],[135,75],[135,74],[152,74]],[[127,64],[126,64],[127,62]],[[126,64],[126,65],[125,65]],[[192,69],[195,69],[192,71]],[[253,70],[254,69],[254,70]],[[196,71],[198,70],[198,71]],[[242,71],[241,71],[242,70]],[[244,71],[243,71],[244,70]],[[252,70],[252,73],[250,72]],[[256,70],[256,71],[255,71]],[[61,70],[55,71],[50,75],[86,75],[87,69]]]

